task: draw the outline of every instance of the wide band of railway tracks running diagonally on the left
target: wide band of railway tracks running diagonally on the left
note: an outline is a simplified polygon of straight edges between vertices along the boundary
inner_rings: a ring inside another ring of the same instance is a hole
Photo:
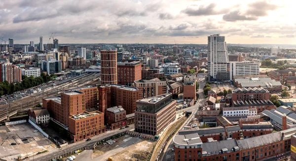
[[[6,120],[7,114],[10,117],[10,115],[14,115],[19,110],[26,110],[38,103],[41,103],[42,98],[44,97],[57,96],[59,92],[65,91],[69,88],[85,86],[99,76],[100,74],[97,73],[86,73],[80,77],[75,77],[67,81],[57,81],[54,86],[50,86],[53,85],[53,83],[50,83],[47,85],[45,91],[42,90],[41,92],[34,93],[33,95],[23,97],[22,99],[12,101],[8,104],[0,105],[0,121]],[[7,110],[3,110],[4,108]]]

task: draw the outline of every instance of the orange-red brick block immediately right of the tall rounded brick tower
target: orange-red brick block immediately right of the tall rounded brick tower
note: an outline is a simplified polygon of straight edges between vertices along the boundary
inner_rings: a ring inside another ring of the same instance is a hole
[[[141,62],[117,63],[117,82],[120,85],[131,86],[135,80],[142,79]]]

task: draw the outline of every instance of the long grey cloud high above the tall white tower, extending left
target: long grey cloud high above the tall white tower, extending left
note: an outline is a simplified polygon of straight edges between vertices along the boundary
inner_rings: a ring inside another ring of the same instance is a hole
[[[217,14],[223,14],[226,12],[225,9],[222,10],[216,10],[217,4],[211,3],[207,6],[200,5],[191,5],[188,6],[186,9],[184,9],[182,12],[186,13],[188,16],[204,16],[204,15],[217,15]]]

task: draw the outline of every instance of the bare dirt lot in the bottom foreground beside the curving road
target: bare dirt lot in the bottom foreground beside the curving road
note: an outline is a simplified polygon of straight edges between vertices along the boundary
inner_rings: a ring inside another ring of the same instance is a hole
[[[112,157],[114,161],[148,161],[156,142],[125,135],[116,139],[112,145],[100,144],[94,150],[92,158],[95,161],[107,161]]]

